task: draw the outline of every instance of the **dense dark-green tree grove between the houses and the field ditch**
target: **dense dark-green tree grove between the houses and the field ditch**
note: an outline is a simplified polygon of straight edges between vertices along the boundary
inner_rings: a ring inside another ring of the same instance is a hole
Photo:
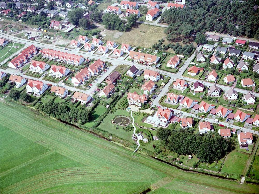
[[[157,136],[166,149],[179,155],[195,154],[200,161],[209,163],[224,157],[235,145],[232,138],[223,138],[217,132],[199,135],[188,129],[159,128]]]

